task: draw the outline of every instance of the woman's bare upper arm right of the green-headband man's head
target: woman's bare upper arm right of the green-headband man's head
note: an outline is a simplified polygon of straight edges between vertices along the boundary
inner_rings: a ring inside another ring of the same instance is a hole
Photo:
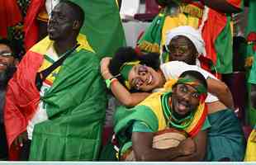
[[[225,82],[220,82],[214,78],[206,79],[208,85],[208,91],[214,94],[220,99],[220,102],[225,104],[225,106],[234,109],[234,101],[230,88],[225,85]]]

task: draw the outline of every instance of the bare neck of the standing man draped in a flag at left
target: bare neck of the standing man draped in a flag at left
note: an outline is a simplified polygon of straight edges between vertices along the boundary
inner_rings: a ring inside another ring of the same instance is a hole
[[[54,43],[56,53],[60,56],[66,51],[72,49],[77,44],[77,40],[58,40]]]

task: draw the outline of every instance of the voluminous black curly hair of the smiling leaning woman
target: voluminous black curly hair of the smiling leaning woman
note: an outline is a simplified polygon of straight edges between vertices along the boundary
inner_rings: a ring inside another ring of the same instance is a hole
[[[109,64],[110,73],[113,76],[118,75],[123,64],[135,60],[139,60],[140,64],[145,64],[148,67],[154,68],[156,71],[160,68],[159,54],[138,54],[132,47],[120,47],[118,50],[116,50],[116,53],[114,54]],[[124,83],[124,80],[121,78],[121,76],[118,77],[118,80],[121,83]]]

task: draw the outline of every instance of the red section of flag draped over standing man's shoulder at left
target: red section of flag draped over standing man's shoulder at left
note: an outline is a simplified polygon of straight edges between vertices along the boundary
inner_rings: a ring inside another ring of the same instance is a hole
[[[31,51],[26,53],[17,68],[17,73],[8,83],[4,124],[10,160],[17,160],[18,148],[12,146],[13,140],[26,131],[28,120],[31,120],[40,100],[35,80],[42,61],[43,55]]]

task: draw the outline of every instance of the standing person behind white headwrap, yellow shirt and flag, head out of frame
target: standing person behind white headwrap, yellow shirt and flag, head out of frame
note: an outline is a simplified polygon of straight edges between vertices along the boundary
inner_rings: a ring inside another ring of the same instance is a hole
[[[162,11],[138,42],[140,50],[158,52],[162,62],[168,56],[161,49],[166,32],[178,26],[192,26],[201,31],[206,43],[206,58],[219,73],[232,72],[231,13],[239,12],[241,0],[156,0]],[[225,38],[225,40],[223,40]],[[210,66],[211,67],[211,66]]]

